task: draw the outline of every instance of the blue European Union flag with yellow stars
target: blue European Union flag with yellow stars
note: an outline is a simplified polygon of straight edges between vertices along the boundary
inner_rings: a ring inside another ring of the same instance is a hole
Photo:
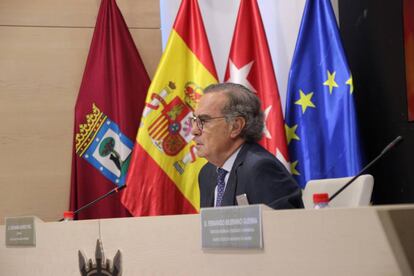
[[[291,172],[301,187],[361,169],[353,92],[331,1],[308,0],[289,74],[285,126]]]

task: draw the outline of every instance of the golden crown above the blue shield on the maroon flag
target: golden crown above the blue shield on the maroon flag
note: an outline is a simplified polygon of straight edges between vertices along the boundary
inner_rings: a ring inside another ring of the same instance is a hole
[[[79,125],[79,132],[75,135],[75,149],[79,156],[82,156],[93,142],[106,118],[107,116],[93,103],[92,113],[86,115],[86,123]]]

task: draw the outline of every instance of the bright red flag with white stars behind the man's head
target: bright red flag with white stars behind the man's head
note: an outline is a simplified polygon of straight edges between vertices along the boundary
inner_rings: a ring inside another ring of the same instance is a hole
[[[257,93],[265,113],[260,144],[288,167],[283,113],[269,46],[254,0],[241,0],[224,79]]]

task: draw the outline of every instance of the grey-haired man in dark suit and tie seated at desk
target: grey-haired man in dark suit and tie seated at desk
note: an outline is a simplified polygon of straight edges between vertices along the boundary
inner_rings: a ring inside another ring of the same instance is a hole
[[[197,155],[209,162],[199,174],[200,207],[250,204],[303,208],[301,189],[279,160],[257,142],[264,122],[260,100],[246,87],[207,87],[192,118]]]

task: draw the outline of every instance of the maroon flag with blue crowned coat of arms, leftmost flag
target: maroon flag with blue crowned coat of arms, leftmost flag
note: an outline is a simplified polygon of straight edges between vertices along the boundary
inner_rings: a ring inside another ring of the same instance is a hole
[[[102,0],[75,106],[71,210],[125,183],[149,82],[115,0]],[[129,215],[115,194],[78,218]]]

